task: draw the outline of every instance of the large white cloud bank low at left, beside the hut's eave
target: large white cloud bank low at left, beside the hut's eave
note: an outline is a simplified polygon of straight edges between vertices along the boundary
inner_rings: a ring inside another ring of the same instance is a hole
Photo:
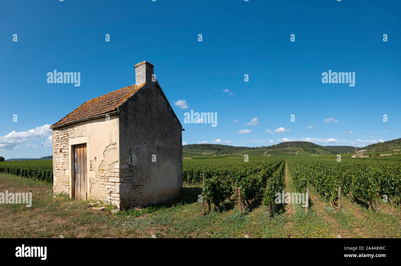
[[[50,129],[50,125],[47,124],[28,131],[12,131],[7,135],[0,137],[0,151],[9,151],[16,148],[17,144],[30,143],[33,140],[47,139],[47,141],[49,141],[49,139],[51,140],[51,135],[52,130]],[[51,147],[51,145],[49,147]]]

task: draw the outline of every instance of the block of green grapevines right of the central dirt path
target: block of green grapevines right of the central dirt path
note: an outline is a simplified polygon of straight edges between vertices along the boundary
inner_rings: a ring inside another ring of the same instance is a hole
[[[338,187],[345,194],[368,200],[377,194],[399,196],[401,190],[401,164],[399,161],[343,159],[288,160],[295,187],[304,192],[306,181],[321,194],[328,196],[333,205]]]

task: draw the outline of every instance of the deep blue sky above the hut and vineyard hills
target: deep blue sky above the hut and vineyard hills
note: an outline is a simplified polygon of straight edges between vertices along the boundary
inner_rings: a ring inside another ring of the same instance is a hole
[[[3,1],[0,156],[51,155],[49,125],[134,84],[134,65],[144,60],[188,144],[360,147],[397,139],[400,7],[386,0]],[[80,86],[48,84],[53,70],[80,72]],[[322,83],[329,70],[355,72],[355,86]],[[184,123],[190,110],[217,113],[217,126]]]

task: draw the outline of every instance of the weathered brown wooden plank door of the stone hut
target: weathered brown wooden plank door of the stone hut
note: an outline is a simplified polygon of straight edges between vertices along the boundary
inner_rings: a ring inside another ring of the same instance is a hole
[[[75,199],[87,199],[86,144],[74,146],[74,195]]]

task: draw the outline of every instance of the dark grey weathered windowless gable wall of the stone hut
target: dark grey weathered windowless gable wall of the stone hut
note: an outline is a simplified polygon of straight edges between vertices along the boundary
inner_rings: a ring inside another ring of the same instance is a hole
[[[146,83],[118,110],[121,208],[179,197],[182,125],[158,83]]]

